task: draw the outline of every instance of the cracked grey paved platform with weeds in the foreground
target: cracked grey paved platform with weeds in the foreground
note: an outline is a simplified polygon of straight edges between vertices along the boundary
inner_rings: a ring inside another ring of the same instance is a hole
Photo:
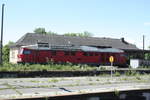
[[[150,89],[150,75],[0,79],[0,99],[38,98]]]

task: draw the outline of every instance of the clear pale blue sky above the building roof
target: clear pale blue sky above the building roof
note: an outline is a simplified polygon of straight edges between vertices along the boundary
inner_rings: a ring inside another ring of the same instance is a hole
[[[150,0],[0,0],[5,3],[4,44],[44,27],[58,34],[89,31],[150,46]],[[1,12],[1,11],[0,11]]]

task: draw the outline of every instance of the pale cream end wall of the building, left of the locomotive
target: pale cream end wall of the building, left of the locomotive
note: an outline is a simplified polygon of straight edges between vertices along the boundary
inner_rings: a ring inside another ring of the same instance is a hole
[[[19,48],[10,48],[9,62],[16,64],[18,61]]]

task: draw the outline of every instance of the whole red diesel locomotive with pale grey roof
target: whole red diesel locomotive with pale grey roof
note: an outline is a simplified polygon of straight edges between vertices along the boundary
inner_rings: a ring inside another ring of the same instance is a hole
[[[114,57],[114,65],[126,64],[125,53],[120,49],[96,48],[90,46],[23,46],[18,54],[18,63],[55,63],[110,65],[109,57]]]

